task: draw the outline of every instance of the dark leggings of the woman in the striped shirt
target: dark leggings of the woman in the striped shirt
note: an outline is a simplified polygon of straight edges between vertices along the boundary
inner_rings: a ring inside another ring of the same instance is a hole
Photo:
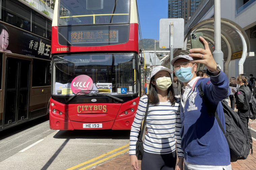
[[[176,161],[176,151],[170,154],[152,154],[144,151],[141,170],[174,170]]]

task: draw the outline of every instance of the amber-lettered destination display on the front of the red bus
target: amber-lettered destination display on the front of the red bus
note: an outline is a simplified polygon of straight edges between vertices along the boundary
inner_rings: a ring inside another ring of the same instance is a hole
[[[118,30],[69,31],[68,41],[71,44],[118,43]]]

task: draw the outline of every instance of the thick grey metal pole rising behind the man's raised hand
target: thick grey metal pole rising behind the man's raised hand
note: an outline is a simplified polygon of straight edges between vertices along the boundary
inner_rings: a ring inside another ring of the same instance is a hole
[[[213,58],[216,63],[220,64],[222,70],[224,70],[224,57],[221,51],[221,12],[220,12],[220,0],[214,1],[214,52]]]

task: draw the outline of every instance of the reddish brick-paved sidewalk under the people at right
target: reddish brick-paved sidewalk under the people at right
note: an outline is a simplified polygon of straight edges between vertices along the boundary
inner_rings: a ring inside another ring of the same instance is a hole
[[[237,111],[237,110],[235,110]],[[250,120],[250,126],[252,129],[256,130],[256,120]],[[238,160],[237,162],[231,162],[232,170],[256,170],[256,131],[251,130],[251,134],[253,137],[253,155],[247,157],[246,160]],[[140,168],[139,161],[139,169]],[[112,160],[105,162],[98,167],[94,168],[94,170],[133,170],[130,164],[130,156],[129,153],[125,153],[124,155],[113,158]]]

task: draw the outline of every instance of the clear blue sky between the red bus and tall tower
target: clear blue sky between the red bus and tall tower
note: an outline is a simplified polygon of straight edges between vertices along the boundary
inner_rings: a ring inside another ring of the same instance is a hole
[[[159,40],[159,22],[168,18],[168,0],[137,0],[142,39]]]

